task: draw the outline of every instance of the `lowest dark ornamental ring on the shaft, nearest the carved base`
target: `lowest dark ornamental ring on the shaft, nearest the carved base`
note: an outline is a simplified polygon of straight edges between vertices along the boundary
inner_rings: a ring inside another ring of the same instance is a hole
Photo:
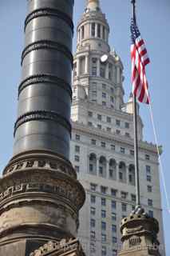
[[[54,111],[47,110],[31,111],[20,116],[14,125],[14,135],[19,126],[21,126],[25,122],[34,120],[51,120],[53,122],[57,122],[61,124],[61,126],[64,126],[67,130],[69,130],[69,134],[71,135],[71,125],[67,121],[67,119]]]

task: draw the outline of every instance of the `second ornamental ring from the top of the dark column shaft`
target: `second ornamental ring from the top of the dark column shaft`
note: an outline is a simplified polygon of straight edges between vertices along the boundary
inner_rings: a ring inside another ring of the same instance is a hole
[[[33,42],[30,45],[26,46],[26,48],[22,51],[22,62],[26,57],[26,55],[30,54],[32,50],[40,50],[40,49],[57,50],[65,54],[65,56],[69,58],[71,65],[73,67],[73,55],[70,52],[70,50],[59,42],[53,42],[49,40],[41,40],[41,41]]]

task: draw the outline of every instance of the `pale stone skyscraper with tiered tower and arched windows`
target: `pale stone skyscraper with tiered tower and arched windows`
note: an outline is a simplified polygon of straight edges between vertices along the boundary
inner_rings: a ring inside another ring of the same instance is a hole
[[[123,64],[109,46],[109,24],[97,0],[89,0],[77,26],[73,64],[70,161],[85,188],[79,238],[86,255],[115,256],[121,219],[135,207],[132,95],[124,102]],[[164,231],[156,146],[143,141],[138,110],[140,200]]]

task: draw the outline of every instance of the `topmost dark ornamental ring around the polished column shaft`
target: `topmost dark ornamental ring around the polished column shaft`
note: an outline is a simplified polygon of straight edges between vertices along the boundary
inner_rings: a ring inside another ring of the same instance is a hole
[[[26,17],[25,30],[26,30],[26,26],[28,25],[28,23],[30,21],[32,21],[34,18],[38,18],[38,17],[42,17],[42,16],[47,16],[47,17],[51,16],[54,18],[61,18],[61,20],[64,20],[70,26],[70,28],[73,32],[72,19],[69,18],[69,16],[67,14],[65,14],[64,12],[62,12],[61,10],[52,9],[52,8],[42,8],[42,9],[34,10],[32,13],[30,13]]]

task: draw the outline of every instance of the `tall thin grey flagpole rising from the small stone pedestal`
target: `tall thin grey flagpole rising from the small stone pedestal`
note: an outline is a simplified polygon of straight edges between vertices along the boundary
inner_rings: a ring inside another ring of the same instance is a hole
[[[136,25],[136,0],[131,0],[132,18]],[[139,156],[138,156],[138,138],[137,138],[137,110],[136,95],[133,94],[133,126],[134,126],[134,158],[135,158],[135,176],[136,176],[136,208],[140,208],[140,177],[139,177]]]

